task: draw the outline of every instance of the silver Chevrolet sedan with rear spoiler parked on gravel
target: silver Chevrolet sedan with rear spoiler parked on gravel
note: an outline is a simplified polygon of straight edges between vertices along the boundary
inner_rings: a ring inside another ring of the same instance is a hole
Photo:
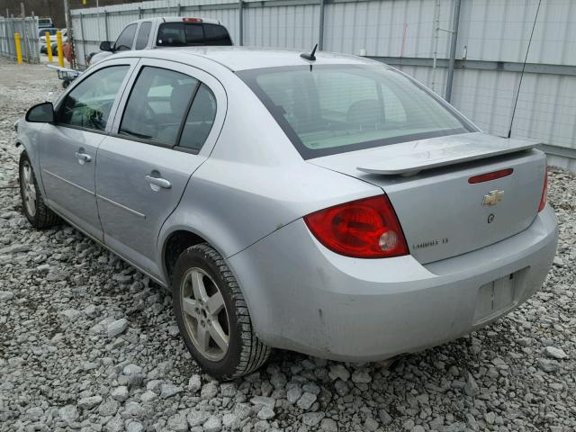
[[[365,58],[129,51],[16,124],[23,211],[174,293],[213,376],[271,348],[373,361],[458,338],[554,259],[545,155]]]

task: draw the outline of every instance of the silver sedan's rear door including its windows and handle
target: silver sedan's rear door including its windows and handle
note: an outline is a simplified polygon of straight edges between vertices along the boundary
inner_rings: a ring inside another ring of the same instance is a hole
[[[224,121],[220,83],[194,67],[143,59],[112,136],[98,148],[97,202],[104,242],[160,275],[157,235]]]

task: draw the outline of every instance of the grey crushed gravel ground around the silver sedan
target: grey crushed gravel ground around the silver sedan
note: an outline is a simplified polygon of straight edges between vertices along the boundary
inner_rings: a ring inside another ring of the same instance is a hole
[[[550,171],[558,257],[507,318],[392,364],[278,352],[217,383],[162,288],[76,229],[24,219],[12,125],[58,94],[54,75],[0,62],[0,430],[574,430],[575,175]]]

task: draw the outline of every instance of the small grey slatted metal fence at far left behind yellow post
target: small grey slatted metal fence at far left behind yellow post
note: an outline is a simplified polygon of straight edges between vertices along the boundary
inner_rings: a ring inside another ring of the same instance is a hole
[[[23,60],[40,63],[38,18],[0,18],[0,57],[16,59],[14,33],[20,35]]]

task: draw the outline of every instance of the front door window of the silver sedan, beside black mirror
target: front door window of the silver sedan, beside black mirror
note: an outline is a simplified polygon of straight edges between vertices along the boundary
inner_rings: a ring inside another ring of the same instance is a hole
[[[67,94],[58,123],[105,130],[112,104],[129,66],[111,66],[94,72]]]

